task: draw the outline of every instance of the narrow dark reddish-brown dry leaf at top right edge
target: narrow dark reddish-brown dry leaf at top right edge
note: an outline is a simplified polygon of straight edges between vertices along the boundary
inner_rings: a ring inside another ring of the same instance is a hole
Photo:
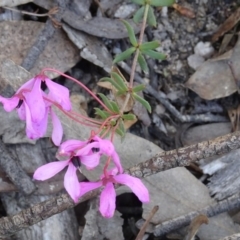
[[[216,42],[219,37],[221,37],[224,33],[231,30],[237,22],[240,20],[240,7],[231,14],[231,16],[219,27],[217,32],[212,37],[212,42]]]

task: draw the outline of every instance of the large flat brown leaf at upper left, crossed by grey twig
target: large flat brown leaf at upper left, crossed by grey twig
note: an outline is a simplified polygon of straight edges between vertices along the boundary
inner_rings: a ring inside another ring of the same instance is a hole
[[[17,65],[22,63],[26,53],[36,41],[44,23],[32,21],[0,23],[0,62],[12,59]],[[46,48],[40,54],[32,74],[39,74],[44,67],[51,67],[65,72],[80,60],[77,48],[65,36],[61,29],[56,30]],[[49,74],[56,77],[56,73]]]

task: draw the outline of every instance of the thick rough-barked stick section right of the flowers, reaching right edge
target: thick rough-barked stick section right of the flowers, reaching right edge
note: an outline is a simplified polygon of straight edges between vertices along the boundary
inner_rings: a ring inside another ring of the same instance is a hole
[[[240,148],[240,132],[234,132],[210,141],[160,152],[153,158],[139,163],[126,172],[132,176],[143,178],[170,168],[189,166],[192,162],[226,154],[238,148]]]

